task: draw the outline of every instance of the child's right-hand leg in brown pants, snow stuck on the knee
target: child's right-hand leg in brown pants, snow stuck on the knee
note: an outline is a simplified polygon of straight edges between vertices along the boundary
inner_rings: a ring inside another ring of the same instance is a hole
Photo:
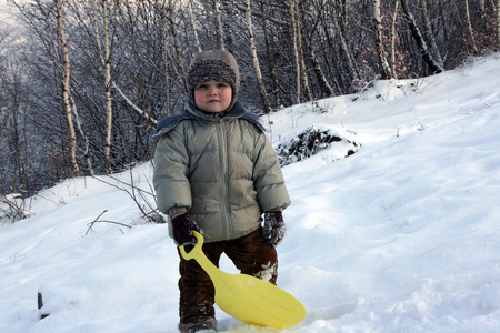
[[[261,229],[226,243],[226,254],[243,274],[257,276],[276,284],[278,253],[262,238]]]

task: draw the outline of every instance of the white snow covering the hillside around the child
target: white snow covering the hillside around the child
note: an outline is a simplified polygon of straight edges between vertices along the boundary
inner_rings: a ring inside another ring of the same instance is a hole
[[[500,332],[499,87],[497,53],[264,117],[276,147],[308,127],[361,144],[283,168],[278,284],[308,310],[289,332]],[[151,192],[151,172],[63,181],[28,201],[31,218],[2,222],[1,332],[177,332],[176,246],[127,185]]]

